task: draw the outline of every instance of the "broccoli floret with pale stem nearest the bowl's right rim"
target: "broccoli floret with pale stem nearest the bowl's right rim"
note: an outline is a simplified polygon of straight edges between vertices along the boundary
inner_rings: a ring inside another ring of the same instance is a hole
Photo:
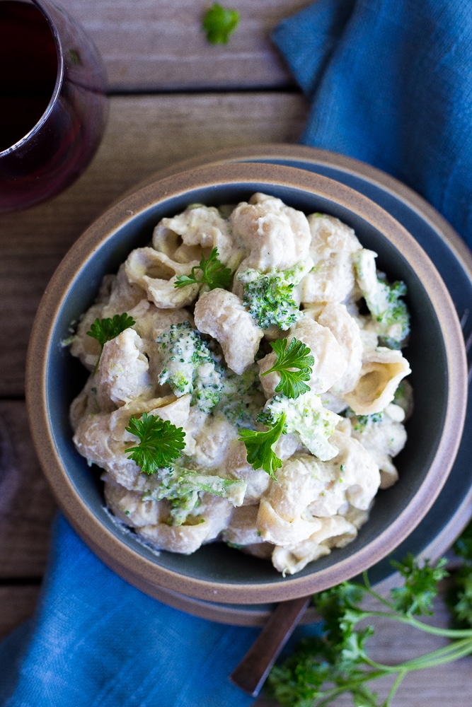
[[[381,344],[390,349],[405,346],[410,333],[410,315],[405,302],[403,281],[388,284],[386,276],[376,270],[376,253],[362,249],[355,255],[357,283],[367,308],[374,319],[375,331]]]

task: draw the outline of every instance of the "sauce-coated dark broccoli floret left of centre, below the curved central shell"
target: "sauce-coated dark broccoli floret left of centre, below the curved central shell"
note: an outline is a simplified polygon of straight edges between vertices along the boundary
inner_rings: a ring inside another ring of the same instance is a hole
[[[177,397],[190,393],[192,405],[209,412],[221,399],[224,369],[200,332],[182,322],[171,325],[156,341],[163,361],[160,385],[168,383]]]

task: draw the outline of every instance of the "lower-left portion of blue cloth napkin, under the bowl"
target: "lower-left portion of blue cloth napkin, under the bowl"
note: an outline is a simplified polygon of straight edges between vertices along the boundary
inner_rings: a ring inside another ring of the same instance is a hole
[[[257,634],[144,595],[59,515],[38,612],[0,643],[0,704],[247,707],[229,674]]]

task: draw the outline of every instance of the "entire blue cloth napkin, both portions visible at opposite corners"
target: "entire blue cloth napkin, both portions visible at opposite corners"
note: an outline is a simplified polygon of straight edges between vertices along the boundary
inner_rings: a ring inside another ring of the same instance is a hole
[[[318,0],[273,39],[311,101],[301,142],[402,180],[472,245],[472,4]],[[0,644],[0,706],[246,707],[228,675],[257,633],[135,590],[59,515],[38,612]]]

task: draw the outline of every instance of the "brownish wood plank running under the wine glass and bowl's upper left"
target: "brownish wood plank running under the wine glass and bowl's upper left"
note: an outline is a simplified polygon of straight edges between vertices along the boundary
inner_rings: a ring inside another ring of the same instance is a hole
[[[25,354],[42,292],[74,240],[125,189],[160,168],[224,147],[294,143],[307,106],[294,93],[119,96],[103,144],[59,197],[0,214],[0,397],[24,395]]]

